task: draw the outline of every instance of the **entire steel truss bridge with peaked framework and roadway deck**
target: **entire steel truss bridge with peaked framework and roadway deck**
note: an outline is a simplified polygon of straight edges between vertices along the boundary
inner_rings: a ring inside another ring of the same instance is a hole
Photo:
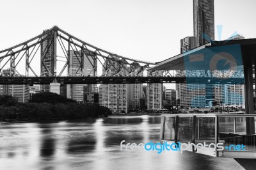
[[[97,77],[98,64],[103,70],[100,77]],[[155,70],[143,75],[155,65],[100,49],[54,26],[26,42],[0,51],[0,84],[188,83],[191,79],[198,84],[241,84],[243,79],[243,71],[232,79],[216,79],[207,70],[186,71],[186,76],[172,70]],[[90,73],[86,72],[88,67]],[[63,74],[65,70],[68,77]]]

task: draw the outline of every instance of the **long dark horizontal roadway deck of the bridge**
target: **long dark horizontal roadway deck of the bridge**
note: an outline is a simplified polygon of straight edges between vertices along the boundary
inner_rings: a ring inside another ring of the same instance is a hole
[[[0,77],[0,84],[140,84],[140,83],[193,83],[244,84],[243,78],[216,79],[215,77]]]

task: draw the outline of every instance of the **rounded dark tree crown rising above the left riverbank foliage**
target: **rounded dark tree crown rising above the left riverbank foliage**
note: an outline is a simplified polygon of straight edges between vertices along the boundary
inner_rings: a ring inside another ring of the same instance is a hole
[[[75,100],[63,97],[57,93],[44,92],[36,93],[33,98],[29,100],[29,103],[48,103],[48,104],[67,104],[74,103]]]

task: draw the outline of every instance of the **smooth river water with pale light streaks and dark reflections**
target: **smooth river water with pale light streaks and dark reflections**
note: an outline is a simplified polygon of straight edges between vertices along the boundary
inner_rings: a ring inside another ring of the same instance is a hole
[[[0,169],[243,169],[232,158],[185,151],[120,151],[159,142],[160,116],[0,122]]]

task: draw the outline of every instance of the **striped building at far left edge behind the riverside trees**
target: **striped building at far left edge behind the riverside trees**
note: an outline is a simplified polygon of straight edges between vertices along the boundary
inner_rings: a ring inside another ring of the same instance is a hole
[[[3,70],[4,76],[14,75],[15,73],[10,68]],[[17,84],[0,84],[0,95],[11,95],[17,98],[18,102],[26,103],[29,100],[29,85],[17,85]]]

